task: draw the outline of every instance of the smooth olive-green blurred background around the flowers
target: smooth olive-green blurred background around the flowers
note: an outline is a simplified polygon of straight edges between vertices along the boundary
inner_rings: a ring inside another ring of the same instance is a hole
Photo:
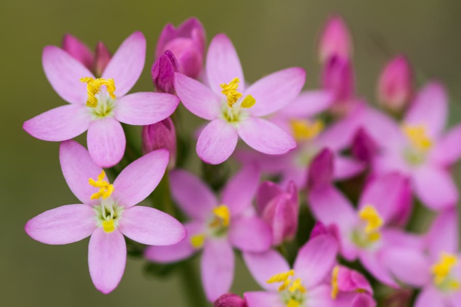
[[[208,41],[220,32],[231,37],[248,82],[301,66],[307,71],[306,88],[314,88],[319,84],[317,37],[333,13],[341,14],[351,29],[361,96],[374,103],[382,66],[392,55],[404,53],[423,78],[437,78],[447,86],[450,122],[461,119],[461,3],[456,0],[2,1],[0,304],[186,306],[177,274],[164,279],[148,277],[143,274],[144,261],[129,258],[118,288],[102,295],[88,273],[88,239],[48,246],[24,232],[29,218],[76,202],[62,178],[58,143],[36,140],[22,130],[25,120],[65,103],[41,68],[44,46],[60,45],[62,35],[71,33],[90,47],[102,40],[115,52],[129,34],[140,30],[148,40],[148,50],[144,72],[133,91],[151,91],[150,67],[160,31],[166,23],[178,25],[196,16]],[[187,124],[198,124],[192,116],[182,114]],[[196,157],[192,166],[194,161]],[[461,169],[455,172],[461,182]],[[241,259],[236,259],[233,291],[241,294],[258,289]]]

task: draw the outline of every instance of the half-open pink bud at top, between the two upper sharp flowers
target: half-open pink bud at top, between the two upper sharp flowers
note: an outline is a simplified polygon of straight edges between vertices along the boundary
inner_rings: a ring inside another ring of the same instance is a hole
[[[159,59],[164,51],[170,50],[177,59],[179,72],[196,79],[202,72],[205,49],[205,29],[197,18],[192,17],[178,28],[172,24],[163,28],[157,42],[155,58]]]

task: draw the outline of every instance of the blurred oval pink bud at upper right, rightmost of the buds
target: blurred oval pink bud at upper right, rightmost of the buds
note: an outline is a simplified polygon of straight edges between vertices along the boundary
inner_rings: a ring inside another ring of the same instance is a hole
[[[379,102],[392,112],[401,112],[413,94],[413,71],[407,58],[390,60],[378,81]]]

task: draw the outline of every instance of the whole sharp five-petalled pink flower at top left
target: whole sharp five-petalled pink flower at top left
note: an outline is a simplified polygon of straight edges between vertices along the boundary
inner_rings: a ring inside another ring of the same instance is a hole
[[[45,47],[43,67],[53,89],[70,104],[40,114],[23,125],[33,137],[65,141],[88,129],[87,144],[93,161],[101,167],[117,164],[125,150],[120,122],[149,125],[169,117],[179,103],[163,93],[128,91],[144,66],[145,39],[135,32],[114,54],[102,78],[93,74],[67,52]]]

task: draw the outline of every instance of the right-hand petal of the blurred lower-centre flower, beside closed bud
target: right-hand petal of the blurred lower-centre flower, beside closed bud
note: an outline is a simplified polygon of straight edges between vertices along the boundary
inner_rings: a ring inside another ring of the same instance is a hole
[[[231,221],[229,241],[246,252],[264,252],[272,244],[272,234],[266,222],[259,217],[243,217]]]

